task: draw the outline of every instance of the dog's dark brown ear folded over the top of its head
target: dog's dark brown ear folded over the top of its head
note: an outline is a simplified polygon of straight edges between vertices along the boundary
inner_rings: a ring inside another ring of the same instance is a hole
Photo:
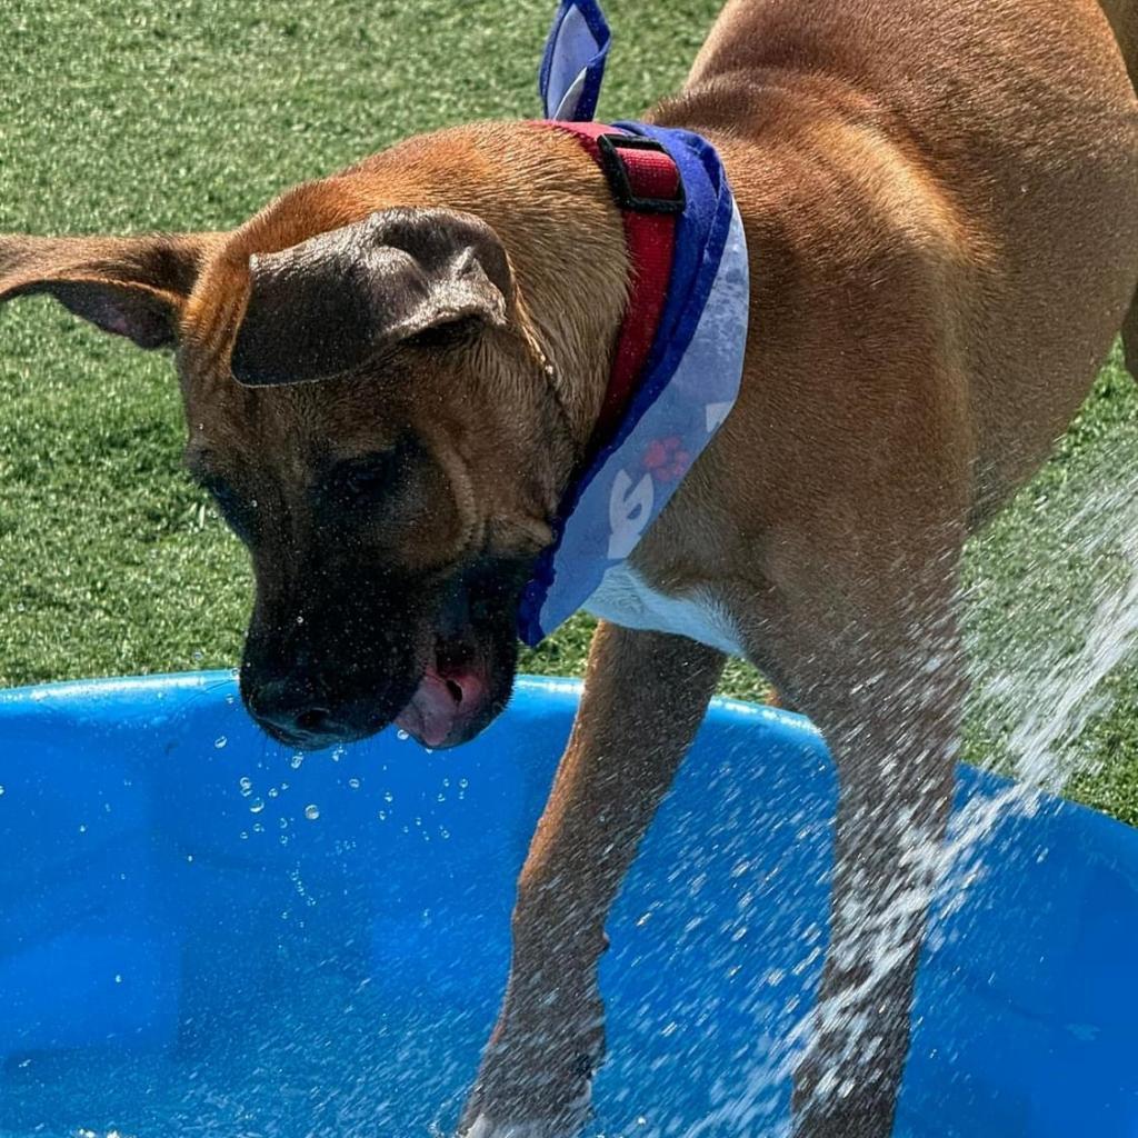
[[[472,214],[386,209],[254,256],[231,366],[241,384],[304,384],[456,321],[505,323],[505,250]]]

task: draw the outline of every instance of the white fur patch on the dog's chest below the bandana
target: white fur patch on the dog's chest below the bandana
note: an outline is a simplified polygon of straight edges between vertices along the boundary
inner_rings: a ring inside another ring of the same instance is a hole
[[[667,596],[657,592],[627,562],[611,568],[588,599],[586,611],[625,628],[674,633],[742,655],[729,613],[706,593]]]

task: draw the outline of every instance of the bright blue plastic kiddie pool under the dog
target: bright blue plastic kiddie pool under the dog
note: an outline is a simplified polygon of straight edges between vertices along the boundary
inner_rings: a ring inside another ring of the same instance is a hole
[[[0,693],[0,1135],[447,1133],[577,696],[297,757],[229,674]],[[898,1132],[1135,1138],[1138,834],[960,784]],[[834,799],[808,723],[714,704],[610,923],[595,1133],[783,1131]]]

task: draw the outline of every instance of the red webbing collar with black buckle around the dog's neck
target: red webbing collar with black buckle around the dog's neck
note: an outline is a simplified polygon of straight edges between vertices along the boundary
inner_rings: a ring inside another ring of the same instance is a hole
[[[603,123],[550,119],[545,125],[576,134],[604,171],[624,218],[632,271],[628,308],[587,463],[616,434],[655,343],[671,278],[676,220],[684,209],[684,184],[675,162],[654,139],[625,134]]]

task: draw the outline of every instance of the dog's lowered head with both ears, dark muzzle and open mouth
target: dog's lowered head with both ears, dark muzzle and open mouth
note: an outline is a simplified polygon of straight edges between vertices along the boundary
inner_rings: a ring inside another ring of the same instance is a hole
[[[340,220],[0,238],[0,299],[48,292],[178,347],[188,468],[253,560],[241,693],[269,734],[308,749],[396,720],[454,745],[509,698],[576,444],[485,222]]]

